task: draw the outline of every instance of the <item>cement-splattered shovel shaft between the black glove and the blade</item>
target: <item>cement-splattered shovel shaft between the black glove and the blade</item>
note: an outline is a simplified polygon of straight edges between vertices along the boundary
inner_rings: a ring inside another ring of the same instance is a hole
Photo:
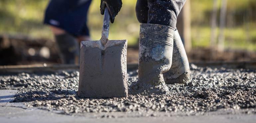
[[[109,11],[108,11],[107,7],[105,7],[101,37],[106,37],[106,38],[108,38],[108,34],[109,34],[109,22],[110,22],[110,14],[109,14]]]

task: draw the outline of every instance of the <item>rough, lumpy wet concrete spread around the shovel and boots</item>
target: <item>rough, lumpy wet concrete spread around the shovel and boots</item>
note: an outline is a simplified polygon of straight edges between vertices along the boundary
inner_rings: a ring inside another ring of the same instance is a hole
[[[128,86],[138,79],[128,70]],[[256,111],[256,71],[202,68],[191,65],[191,82],[167,85],[171,95],[128,95],[123,98],[79,98],[79,72],[0,75],[0,88],[19,89],[13,102],[76,115],[87,112],[170,112],[203,114],[218,109]],[[248,113],[248,112],[246,112]],[[152,115],[154,116],[154,114]],[[103,116],[104,117],[104,116]]]

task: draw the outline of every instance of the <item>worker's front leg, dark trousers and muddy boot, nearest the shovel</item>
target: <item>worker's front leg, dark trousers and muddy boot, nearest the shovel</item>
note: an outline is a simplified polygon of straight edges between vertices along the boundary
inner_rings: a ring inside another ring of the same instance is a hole
[[[149,93],[162,94],[169,91],[163,73],[171,68],[174,30],[184,4],[175,3],[179,2],[148,0],[148,22],[140,27],[139,80],[136,84],[142,89],[146,87]]]

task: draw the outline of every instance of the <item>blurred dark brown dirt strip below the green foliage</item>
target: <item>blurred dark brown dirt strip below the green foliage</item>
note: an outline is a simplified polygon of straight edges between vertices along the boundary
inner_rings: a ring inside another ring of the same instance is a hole
[[[209,48],[193,48],[187,52],[190,62],[195,61],[256,61],[256,52]],[[47,39],[26,36],[0,35],[0,65],[61,63],[56,44]],[[128,47],[127,62],[138,63],[138,46]]]

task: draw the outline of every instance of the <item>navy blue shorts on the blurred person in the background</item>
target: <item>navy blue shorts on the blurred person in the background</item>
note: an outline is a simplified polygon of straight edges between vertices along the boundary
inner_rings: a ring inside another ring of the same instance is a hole
[[[90,4],[91,0],[51,0],[44,24],[61,28],[75,37],[89,36],[86,22]]]

